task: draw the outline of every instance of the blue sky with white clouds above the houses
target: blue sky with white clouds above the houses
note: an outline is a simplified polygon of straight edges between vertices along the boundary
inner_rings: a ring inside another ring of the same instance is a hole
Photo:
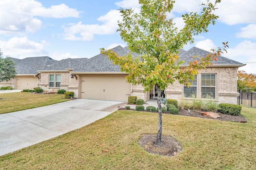
[[[182,27],[181,14],[200,11],[206,0],[176,0],[169,17]],[[256,1],[222,0],[216,24],[195,37],[193,46],[210,51],[228,41],[224,57],[247,63],[256,73]],[[49,56],[56,60],[93,57],[100,48],[126,46],[120,35],[118,9],[139,10],[138,0],[1,0],[0,48],[4,56],[23,59]]]

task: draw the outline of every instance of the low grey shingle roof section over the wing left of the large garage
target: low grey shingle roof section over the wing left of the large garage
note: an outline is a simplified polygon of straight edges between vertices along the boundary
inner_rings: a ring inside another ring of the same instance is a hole
[[[47,65],[44,67],[44,70],[65,70],[66,68],[73,68],[72,66],[87,61],[87,58],[80,58],[80,59],[63,59],[61,61],[58,61],[54,64]]]

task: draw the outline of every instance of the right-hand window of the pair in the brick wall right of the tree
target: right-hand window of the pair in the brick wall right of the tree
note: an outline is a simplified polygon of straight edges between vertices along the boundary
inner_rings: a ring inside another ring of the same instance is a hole
[[[216,74],[201,74],[201,98],[215,99]]]

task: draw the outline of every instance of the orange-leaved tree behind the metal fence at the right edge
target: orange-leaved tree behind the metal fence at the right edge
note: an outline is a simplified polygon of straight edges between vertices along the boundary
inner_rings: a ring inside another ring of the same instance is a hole
[[[237,71],[237,90],[239,92],[256,91],[256,75],[247,74],[244,70]]]

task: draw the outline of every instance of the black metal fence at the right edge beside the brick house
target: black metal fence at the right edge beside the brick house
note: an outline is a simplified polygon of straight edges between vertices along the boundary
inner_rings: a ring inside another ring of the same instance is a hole
[[[256,93],[240,92],[237,104],[244,107],[256,107]]]

